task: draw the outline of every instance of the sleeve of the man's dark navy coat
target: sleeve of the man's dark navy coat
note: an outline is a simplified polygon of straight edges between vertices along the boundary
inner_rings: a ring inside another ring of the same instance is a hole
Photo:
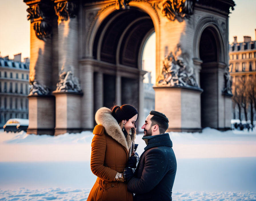
[[[133,177],[127,184],[127,189],[135,194],[151,191],[166,173],[167,158],[165,152],[153,148],[145,154],[145,166],[141,178]]]

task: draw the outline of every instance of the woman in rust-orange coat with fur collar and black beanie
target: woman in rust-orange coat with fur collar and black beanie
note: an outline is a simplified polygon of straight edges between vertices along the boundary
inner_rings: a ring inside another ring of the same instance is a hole
[[[97,180],[87,200],[132,201],[127,191],[123,171],[131,148],[130,129],[135,127],[137,110],[128,104],[112,111],[102,107],[95,114],[98,124],[91,143],[91,170]]]

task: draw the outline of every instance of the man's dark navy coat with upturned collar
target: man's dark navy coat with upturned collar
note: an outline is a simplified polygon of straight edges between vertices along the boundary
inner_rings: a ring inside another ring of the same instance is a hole
[[[127,184],[127,189],[135,193],[134,200],[172,200],[172,188],[177,163],[168,133],[145,136],[148,140],[141,154],[138,167]]]

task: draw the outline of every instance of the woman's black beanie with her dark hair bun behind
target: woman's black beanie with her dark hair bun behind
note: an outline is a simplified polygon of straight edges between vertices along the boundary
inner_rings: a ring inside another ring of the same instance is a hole
[[[112,109],[112,116],[117,120],[118,124],[122,120],[129,120],[136,114],[138,114],[138,111],[135,109],[135,107],[128,104],[122,105],[121,107],[114,106]]]

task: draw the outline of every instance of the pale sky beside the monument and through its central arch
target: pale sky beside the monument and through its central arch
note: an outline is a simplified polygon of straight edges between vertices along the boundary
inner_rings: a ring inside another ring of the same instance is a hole
[[[242,42],[243,36],[248,35],[255,39],[256,29],[256,0],[235,0],[235,10],[229,15],[229,42],[233,42],[233,36]],[[23,0],[0,0],[0,55],[2,57],[22,53],[24,57],[30,57],[30,22],[27,21],[28,6]],[[143,53],[145,70],[152,71],[155,81],[155,34],[145,45]]]

